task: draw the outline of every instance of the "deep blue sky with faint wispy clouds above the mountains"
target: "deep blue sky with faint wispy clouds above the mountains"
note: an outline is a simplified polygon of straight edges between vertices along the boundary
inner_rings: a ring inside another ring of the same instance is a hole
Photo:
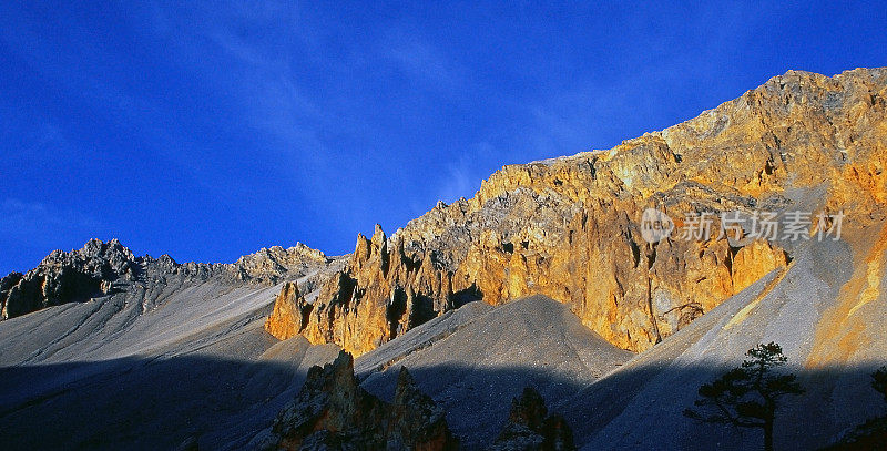
[[[343,254],[503,164],[887,65],[883,2],[320,3],[0,3],[0,273],[91,237]]]

